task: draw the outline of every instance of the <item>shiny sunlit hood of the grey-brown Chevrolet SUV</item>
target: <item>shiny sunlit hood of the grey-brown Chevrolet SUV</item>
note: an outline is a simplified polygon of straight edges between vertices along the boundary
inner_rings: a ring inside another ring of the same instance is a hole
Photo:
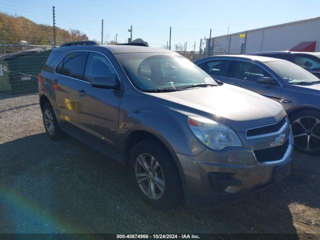
[[[283,107],[252,91],[223,84],[182,91],[146,93],[147,99],[189,115],[200,115],[229,125],[235,131],[275,123]]]

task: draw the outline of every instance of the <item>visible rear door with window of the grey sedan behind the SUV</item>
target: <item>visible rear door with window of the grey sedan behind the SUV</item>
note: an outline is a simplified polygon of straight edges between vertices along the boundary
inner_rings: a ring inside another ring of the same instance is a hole
[[[231,59],[212,59],[202,62],[199,67],[213,78],[227,82]]]

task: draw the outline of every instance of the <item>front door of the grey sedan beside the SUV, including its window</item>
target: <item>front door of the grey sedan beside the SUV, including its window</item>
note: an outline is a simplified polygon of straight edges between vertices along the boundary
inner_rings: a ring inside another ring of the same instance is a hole
[[[277,80],[275,80],[272,85],[256,82],[260,76],[272,77],[266,68],[256,63],[243,60],[235,60],[232,65],[231,77],[228,79],[229,84],[254,91],[278,102],[281,100],[282,88]]]

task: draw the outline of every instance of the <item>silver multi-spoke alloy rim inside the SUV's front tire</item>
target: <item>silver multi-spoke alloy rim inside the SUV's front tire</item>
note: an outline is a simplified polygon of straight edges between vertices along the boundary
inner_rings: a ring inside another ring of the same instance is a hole
[[[153,200],[159,199],[164,192],[164,175],[157,160],[148,153],[141,153],[134,168],[142,192]]]

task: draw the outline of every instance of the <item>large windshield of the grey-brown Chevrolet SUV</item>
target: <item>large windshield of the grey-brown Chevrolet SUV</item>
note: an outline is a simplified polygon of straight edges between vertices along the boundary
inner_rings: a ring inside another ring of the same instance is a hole
[[[117,53],[131,82],[140,90],[179,89],[200,83],[216,84],[208,74],[180,55]]]

